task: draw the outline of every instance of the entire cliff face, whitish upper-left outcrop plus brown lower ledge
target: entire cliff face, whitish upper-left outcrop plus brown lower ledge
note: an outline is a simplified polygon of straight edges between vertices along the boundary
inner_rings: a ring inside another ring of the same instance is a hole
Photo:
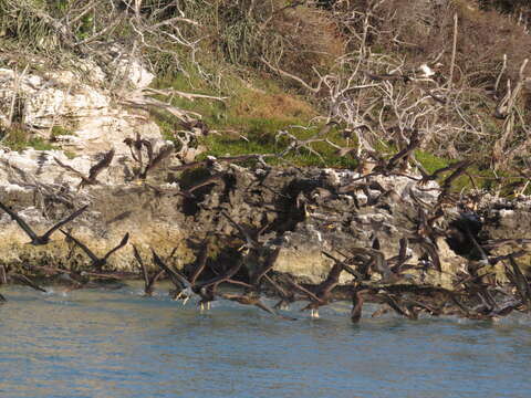
[[[72,72],[17,76],[13,71],[0,71],[3,103],[8,97],[27,98],[24,123],[33,126],[35,134],[45,137],[60,122],[72,126],[71,134],[54,137],[56,149],[0,150],[1,201],[38,232],[88,205],[66,229],[98,255],[128,232],[145,258],[150,255],[150,248],[165,255],[176,249],[174,262],[180,268],[195,259],[195,242],[210,234],[215,237],[212,263],[230,263],[246,255],[250,272],[268,250],[280,247],[273,270],[308,283],[323,281],[331,269],[333,260],[323,252],[340,260],[357,255],[357,261],[377,252],[389,260],[398,256],[400,240],[407,240],[408,271],[388,282],[446,287],[451,287],[452,279],[468,266],[469,260],[462,255],[473,260],[467,229],[472,229],[478,241],[531,238],[525,222],[531,217],[529,202],[490,199],[472,214],[445,207],[435,222],[438,238],[426,242],[419,231],[421,218],[436,216],[430,209],[439,188],[436,182],[419,186],[413,174],[360,179],[357,172],[348,170],[278,168],[260,160],[246,168],[223,159],[209,159],[181,174],[180,150],[139,178],[139,171],[146,170],[148,151],[156,155],[168,143],[145,111],[121,105],[124,98],[142,102],[142,91],[150,82],[139,65],[134,71],[122,100],[102,88],[98,82],[108,76],[101,76],[103,72],[97,69],[92,71],[92,83],[80,83]],[[10,88],[13,85],[15,92]],[[148,143],[139,149],[144,150],[144,164],[138,161],[138,154],[134,155],[134,145],[129,148],[124,143],[137,134]],[[91,167],[111,148],[114,158],[97,184],[80,186],[77,171],[88,176]],[[74,154],[66,156],[69,151]],[[462,228],[462,222],[475,226]],[[3,265],[82,268],[90,263],[59,231],[48,245],[33,247],[27,244],[28,237],[6,212],[0,213],[0,224]],[[248,254],[239,250],[246,243],[240,229],[256,240]],[[454,250],[448,242],[454,242]],[[430,249],[434,247],[437,259]],[[512,242],[492,250],[507,254],[524,247],[525,242]],[[108,268],[131,270],[133,261],[129,244],[113,255]],[[375,261],[371,266],[376,266]],[[440,262],[440,272],[435,270],[436,262]],[[504,277],[501,265],[487,271]],[[382,272],[373,273],[375,279],[382,276]],[[342,277],[348,282],[351,276],[344,273]]]

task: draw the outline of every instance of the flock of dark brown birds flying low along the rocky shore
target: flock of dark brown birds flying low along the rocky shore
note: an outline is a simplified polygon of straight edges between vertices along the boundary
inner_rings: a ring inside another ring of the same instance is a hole
[[[137,136],[136,139],[128,139],[126,144],[131,148],[134,160],[139,164],[137,176],[140,179],[145,179],[147,172],[157,167],[171,151],[168,148],[162,148],[158,154],[154,154],[149,142],[143,140],[139,136]],[[170,296],[174,300],[181,301],[184,304],[194,297],[201,311],[208,311],[212,301],[220,298],[229,300],[242,305],[257,306],[283,320],[295,320],[290,313],[285,313],[284,311],[296,301],[308,301],[309,304],[303,306],[301,311],[310,311],[312,317],[319,317],[320,307],[330,304],[334,300],[345,297],[352,300],[351,320],[353,323],[360,322],[363,305],[367,301],[382,304],[373,316],[394,311],[407,318],[417,318],[419,314],[428,313],[434,316],[457,315],[476,320],[492,320],[507,315],[512,311],[531,311],[531,285],[520,269],[520,265],[516,262],[518,256],[525,254],[525,251],[491,256],[489,249],[510,243],[509,240],[504,240],[503,242],[490,241],[487,245],[482,245],[466,227],[460,233],[462,234],[462,239],[466,239],[472,244],[476,260],[468,262],[468,272],[460,275],[458,280],[454,282],[454,290],[434,285],[404,283],[404,272],[406,270],[416,269],[423,272],[429,266],[437,272],[442,272],[436,241],[437,237],[446,232],[437,227],[437,221],[445,216],[444,210],[448,205],[455,205],[451,186],[470,166],[468,161],[460,161],[429,174],[417,164],[421,174],[420,178],[404,174],[404,165],[408,165],[412,160],[415,161],[413,153],[418,144],[418,136],[413,134],[409,144],[389,159],[383,159],[377,154],[368,154],[368,157],[372,158],[375,166],[372,167],[369,171],[361,172],[362,176],[356,179],[365,180],[368,184],[373,176],[402,175],[416,180],[418,185],[423,186],[428,181],[439,179],[445,172],[449,172],[449,176],[440,184],[439,195],[435,203],[428,205],[419,198],[416,198],[413,191],[410,192],[412,199],[418,210],[416,219],[417,228],[416,231],[414,231],[414,237],[400,239],[399,252],[396,256],[386,259],[381,251],[377,239],[373,241],[372,248],[357,248],[351,253],[344,253],[344,260],[339,260],[331,253],[323,252],[323,255],[330,258],[334,263],[324,281],[316,285],[301,284],[287,274],[277,274],[273,271],[281,251],[281,245],[266,245],[260,243],[258,240],[260,232],[250,233],[246,226],[239,224],[227,212],[220,211],[219,216],[227,219],[233,227],[233,230],[237,231],[239,239],[244,242],[243,245],[240,247],[239,255],[235,255],[236,260],[233,263],[225,269],[219,269],[214,262],[209,261],[209,250],[215,234],[207,234],[205,240],[196,248],[195,262],[186,265],[181,271],[168,264],[175,254],[175,250],[167,259],[163,259],[152,249],[152,264],[149,265],[147,261],[142,258],[138,249],[133,244],[133,254],[139,274],[144,280],[145,295],[150,296],[155,291],[156,283],[166,275],[174,286],[170,291]],[[147,151],[147,160],[143,159],[143,150]],[[82,188],[86,185],[97,184],[97,175],[104,168],[108,167],[113,156],[114,150],[105,154],[103,159],[91,168],[88,176],[62,164],[59,159],[55,159],[55,161],[59,166],[76,174],[81,178],[80,188]],[[227,158],[226,160],[231,161],[238,159],[240,158]],[[222,159],[219,159],[219,161],[221,160]],[[185,166],[190,167],[189,165]],[[363,167],[362,161],[360,167]],[[183,191],[183,195],[192,197],[195,189],[206,184],[211,184],[211,181],[217,178],[219,178],[219,175],[214,175],[205,181],[200,181],[188,190]],[[355,184],[356,181],[352,182]],[[22,274],[17,272],[20,270],[8,269],[4,265],[0,265],[0,284],[12,281],[39,291],[45,291],[44,287],[35,282],[37,279],[43,274],[46,276],[59,275],[60,281],[70,285],[69,289],[92,287],[95,285],[94,281],[124,280],[138,276],[138,273],[108,271],[110,268],[106,266],[110,256],[127,245],[129,240],[128,233],[105,255],[97,256],[87,245],[75,238],[72,231],[64,229],[67,223],[87,210],[87,206],[73,211],[69,217],[54,224],[43,234],[35,233],[15,211],[4,203],[0,202],[0,208],[28,234],[31,239],[31,244],[46,244],[50,242],[52,234],[60,231],[65,235],[67,242],[71,242],[73,247],[80,248],[91,261],[90,265],[85,266],[81,272],[27,265],[25,272]],[[220,237],[218,238],[221,239]],[[419,266],[407,263],[410,259],[410,255],[408,255],[408,244],[412,243],[419,244],[428,254],[429,261],[426,261],[425,265]],[[521,240],[519,243],[529,242]],[[261,259],[259,264],[252,270],[246,265],[248,255],[253,255],[253,259]],[[481,272],[488,266],[500,262],[504,264],[506,274],[510,281],[504,285],[497,283],[491,272]],[[424,270],[423,266],[425,268]],[[340,285],[340,276],[343,272],[351,274],[353,282],[347,285]],[[372,277],[375,273],[379,275],[379,280],[376,282],[374,277]],[[239,286],[238,293],[222,290],[220,289],[221,285]],[[264,294],[275,296],[279,301],[275,305],[269,306],[262,300]],[[6,301],[6,298],[0,295],[0,301]]]

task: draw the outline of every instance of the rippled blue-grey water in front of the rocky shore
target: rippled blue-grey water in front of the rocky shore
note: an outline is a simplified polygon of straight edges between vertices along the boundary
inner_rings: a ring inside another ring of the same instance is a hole
[[[531,321],[417,322],[348,303],[277,320],[216,302],[200,314],[164,292],[2,289],[0,397],[525,397]]]

